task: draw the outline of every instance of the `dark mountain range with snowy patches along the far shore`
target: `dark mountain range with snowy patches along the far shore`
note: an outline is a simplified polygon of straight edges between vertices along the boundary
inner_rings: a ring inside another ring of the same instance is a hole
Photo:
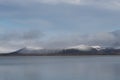
[[[22,56],[120,55],[120,49],[103,48],[101,46],[78,45],[68,47],[65,49],[22,48],[11,53],[0,55],[22,55]]]

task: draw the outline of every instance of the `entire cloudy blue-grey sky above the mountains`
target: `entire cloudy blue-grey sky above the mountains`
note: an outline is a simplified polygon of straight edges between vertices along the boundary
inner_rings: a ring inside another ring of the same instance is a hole
[[[120,0],[0,0],[0,52],[120,46]]]

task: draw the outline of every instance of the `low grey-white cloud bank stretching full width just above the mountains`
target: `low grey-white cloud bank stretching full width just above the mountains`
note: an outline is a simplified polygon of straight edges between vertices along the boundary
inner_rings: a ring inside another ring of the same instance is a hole
[[[44,40],[47,34],[39,30],[9,32],[0,34],[0,52],[14,51],[23,47],[64,49],[77,45],[99,45],[101,47],[120,47],[120,30],[88,35],[63,35]]]

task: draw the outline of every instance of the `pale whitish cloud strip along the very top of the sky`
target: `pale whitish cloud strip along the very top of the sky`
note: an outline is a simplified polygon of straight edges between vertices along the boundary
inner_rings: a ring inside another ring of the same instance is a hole
[[[96,5],[106,8],[119,9],[120,0],[0,0],[1,4],[14,4],[28,6],[38,3],[44,4],[73,4],[73,5]]]

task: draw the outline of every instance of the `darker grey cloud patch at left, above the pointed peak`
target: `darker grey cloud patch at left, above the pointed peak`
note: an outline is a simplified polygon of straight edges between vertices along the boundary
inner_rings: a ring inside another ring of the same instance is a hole
[[[18,31],[14,32],[10,31],[8,33],[2,33],[0,34],[0,40],[2,41],[10,41],[10,40],[35,40],[39,39],[44,36],[44,34],[36,29],[33,30],[23,30],[23,31]]]

